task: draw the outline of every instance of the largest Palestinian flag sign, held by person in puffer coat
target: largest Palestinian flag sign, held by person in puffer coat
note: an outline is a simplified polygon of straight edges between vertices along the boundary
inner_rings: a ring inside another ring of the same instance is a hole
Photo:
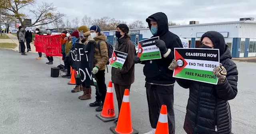
[[[218,77],[212,71],[220,65],[219,49],[174,48],[178,67],[173,77],[217,84]]]

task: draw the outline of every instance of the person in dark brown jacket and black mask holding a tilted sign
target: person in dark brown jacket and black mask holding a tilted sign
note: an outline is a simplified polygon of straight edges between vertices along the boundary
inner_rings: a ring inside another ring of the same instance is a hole
[[[131,36],[128,33],[129,28],[126,24],[119,24],[116,27],[116,37],[118,38],[118,42],[116,43],[115,50],[128,54],[122,70],[120,70],[120,68],[112,67],[112,83],[114,83],[116,91],[118,113],[120,113],[125,89],[130,90],[132,83],[134,83],[133,57],[136,53],[136,49],[131,41]],[[109,59],[109,62],[111,62],[111,58]],[[115,123],[117,123],[117,121],[118,119],[114,120]]]

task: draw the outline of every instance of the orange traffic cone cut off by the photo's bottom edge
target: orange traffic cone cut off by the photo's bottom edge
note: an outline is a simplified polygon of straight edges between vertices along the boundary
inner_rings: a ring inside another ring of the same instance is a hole
[[[161,111],[158,117],[158,122],[156,125],[155,134],[169,134],[168,128],[168,116],[167,116],[167,106],[162,105]]]

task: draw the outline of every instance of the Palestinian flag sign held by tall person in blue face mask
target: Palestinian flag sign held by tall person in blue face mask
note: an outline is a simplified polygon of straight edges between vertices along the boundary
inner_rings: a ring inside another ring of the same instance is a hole
[[[162,58],[160,50],[156,46],[156,39],[159,39],[159,36],[139,41],[138,57],[141,61]]]

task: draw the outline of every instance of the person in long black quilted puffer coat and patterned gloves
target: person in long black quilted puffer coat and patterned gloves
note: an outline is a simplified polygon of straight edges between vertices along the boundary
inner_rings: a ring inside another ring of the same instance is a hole
[[[232,134],[231,113],[228,100],[237,94],[238,71],[222,34],[210,31],[201,37],[201,48],[220,50],[220,66],[213,69],[219,78],[218,84],[208,84],[186,79],[176,79],[177,83],[190,90],[184,130],[187,134]],[[174,60],[168,67],[174,70]]]

